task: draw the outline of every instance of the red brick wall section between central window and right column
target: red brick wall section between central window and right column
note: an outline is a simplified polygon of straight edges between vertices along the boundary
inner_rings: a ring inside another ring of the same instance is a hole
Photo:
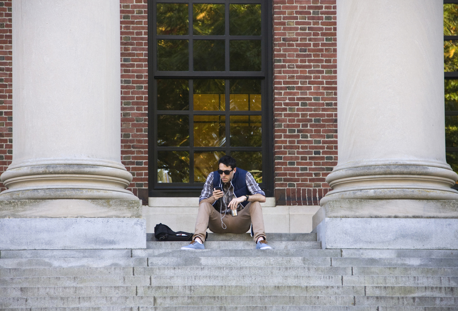
[[[317,205],[337,164],[336,1],[273,0],[278,205]]]

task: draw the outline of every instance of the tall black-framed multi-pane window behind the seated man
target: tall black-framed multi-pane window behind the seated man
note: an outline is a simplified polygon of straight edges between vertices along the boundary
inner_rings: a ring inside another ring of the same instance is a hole
[[[149,196],[200,194],[225,154],[273,195],[269,2],[149,1]]]

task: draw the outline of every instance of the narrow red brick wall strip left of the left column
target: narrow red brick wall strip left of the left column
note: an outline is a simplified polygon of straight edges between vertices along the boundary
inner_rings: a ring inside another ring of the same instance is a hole
[[[11,0],[0,2],[0,173],[13,157]],[[0,190],[5,190],[0,183]]]

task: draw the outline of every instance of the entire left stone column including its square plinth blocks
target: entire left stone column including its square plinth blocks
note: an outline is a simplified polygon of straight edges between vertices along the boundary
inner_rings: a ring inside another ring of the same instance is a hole
[[[114,0],[15,0],[13,161],[0,249],[145,248],[120,161],[120,10]]]

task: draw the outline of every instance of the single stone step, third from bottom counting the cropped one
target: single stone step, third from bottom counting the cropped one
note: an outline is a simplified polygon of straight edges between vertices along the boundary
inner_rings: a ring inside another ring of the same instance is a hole
[[[319,285],[173,285],[173,286],[35,286],[0,287],[3,297],[63,296],[204,296],[204,295],[338,295],[457,297],[457,287],[446,286],[319,286]]]

